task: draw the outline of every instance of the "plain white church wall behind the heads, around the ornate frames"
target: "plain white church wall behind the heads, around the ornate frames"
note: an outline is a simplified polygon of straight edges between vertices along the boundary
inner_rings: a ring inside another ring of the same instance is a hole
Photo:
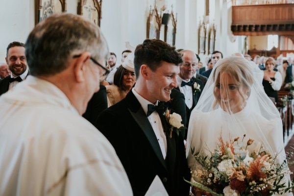
[[[68,13],[76,14],[77,2],[78,0],[67,0]],[[164,3],[167,8],[165,12],[170,13],[173,6],[173,12],[177,14],[176,48],[189,49],[197,53],[198,25],[205,13],[205,0],[165,0]],[[146,39],[150,5],[153,8],[154,0],[102,1],[101,31],[108,42],[109,50],[117,54],[118,63],[121,61],[122,51],[125,50],[125,41],[136,47]],[[215,49],[223,52],[224,56],[241,52],[239,45],[242,43],[231,42],[228,38],[229,7],[227,0],[210,0],[209,20],[210,23],[215,22],[217,25]],[[6,47],[10,42],[25,42],[34,27],[34,10],[34,0],[0,1],[0,61],[4,60]],[[161,31],[164,31],[164,26]]]

